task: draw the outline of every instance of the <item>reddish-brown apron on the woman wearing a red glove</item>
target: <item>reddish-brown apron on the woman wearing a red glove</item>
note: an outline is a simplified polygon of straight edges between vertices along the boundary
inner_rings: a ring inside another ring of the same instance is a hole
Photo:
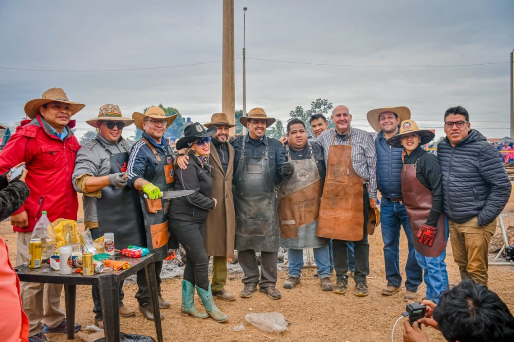
[[[432,246],[419,242],[417,237],[419,227],[427,222],[432,208],[432,192],[417,179],[416,164],[417,162],[414,164],[404,164],[401,169],[400,180],[403,204],[405,204],[405,210],[411,223],[414,248],[424,256],[437,257],[446,250],[445,215],[441,213],[437,220],[437,234],[435,234]]]

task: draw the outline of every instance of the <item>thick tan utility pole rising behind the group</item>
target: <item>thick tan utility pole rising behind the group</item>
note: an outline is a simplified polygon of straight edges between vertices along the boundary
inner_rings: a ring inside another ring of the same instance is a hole
[[[222,111],[235,124],[234,94],[234,0],[223,0]],[[230,128],[235,134],[235,128]]]

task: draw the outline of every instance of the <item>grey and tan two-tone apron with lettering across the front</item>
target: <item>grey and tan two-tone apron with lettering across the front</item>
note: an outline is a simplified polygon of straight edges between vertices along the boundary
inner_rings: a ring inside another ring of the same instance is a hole
[[[316,236],[323,184],[313,146],[307,143],[309,159],[292,160],[289,146],[286,146],[287,157],[295,166],[295,172],[284,180],[279,192],[280,245],[286,248],[319,248],[326,243],[325,239]]]

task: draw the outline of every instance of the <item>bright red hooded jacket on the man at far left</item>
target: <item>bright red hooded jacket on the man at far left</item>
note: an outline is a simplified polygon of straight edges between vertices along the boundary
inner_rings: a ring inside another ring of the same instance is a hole
[[[42,211],[50,221],[58,218],[77,220],[79,203],[71,184],[71,174],[80,144],[68,130],[64,141],[49,132],[38,115],[28,125],[17,127],[0,156],[0,173],[25,162],[25,182],[30,196],[14,214],[27,212],[29,224],[15,227],[15,232],[32,232]]]

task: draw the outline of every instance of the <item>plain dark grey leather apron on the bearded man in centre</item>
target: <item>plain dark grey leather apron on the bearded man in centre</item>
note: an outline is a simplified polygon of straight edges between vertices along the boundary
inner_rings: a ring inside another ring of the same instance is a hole
[[[267,145],[264,157],[245,157],[243,144],[232,192],[235,249],[277,252],[280,243],[277,193],[270,175]]]

